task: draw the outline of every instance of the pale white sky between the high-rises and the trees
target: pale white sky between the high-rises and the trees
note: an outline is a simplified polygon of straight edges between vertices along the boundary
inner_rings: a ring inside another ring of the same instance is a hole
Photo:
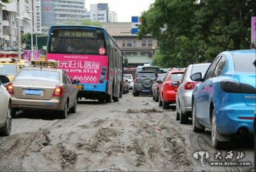
[[[108,3],[109,11],[116,13],[118,22],[131,22],[132,16],[140,16],[147,11],[154,0],[84,0],[85,8],[90,11],[90,4]]]

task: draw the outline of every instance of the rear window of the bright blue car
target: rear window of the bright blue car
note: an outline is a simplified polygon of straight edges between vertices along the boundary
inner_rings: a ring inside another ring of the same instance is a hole
[[[256,72],[256,68],[253,65],[255,55],[253,56],[252,54],[244,54],[233,56],[233,59],[235,72]]]

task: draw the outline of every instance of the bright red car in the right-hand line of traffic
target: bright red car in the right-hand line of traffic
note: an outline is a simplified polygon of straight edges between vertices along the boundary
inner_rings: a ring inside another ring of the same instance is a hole
[[[163,109],[169,109],[170,104],[176,103],[176,93],[179,86],[177,81],[180,82],[184,70],[170,70],[164,77],[163,84],[159,88],[159,106],[163,106]],[[176,82],[176,86],[173,84]]]

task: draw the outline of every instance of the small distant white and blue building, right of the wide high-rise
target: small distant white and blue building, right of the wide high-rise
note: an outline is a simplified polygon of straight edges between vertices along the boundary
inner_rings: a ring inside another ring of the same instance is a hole
[[[85,19],[99,22],[109,22],[108,4],[90,4],[90,12],[86,12]]]

